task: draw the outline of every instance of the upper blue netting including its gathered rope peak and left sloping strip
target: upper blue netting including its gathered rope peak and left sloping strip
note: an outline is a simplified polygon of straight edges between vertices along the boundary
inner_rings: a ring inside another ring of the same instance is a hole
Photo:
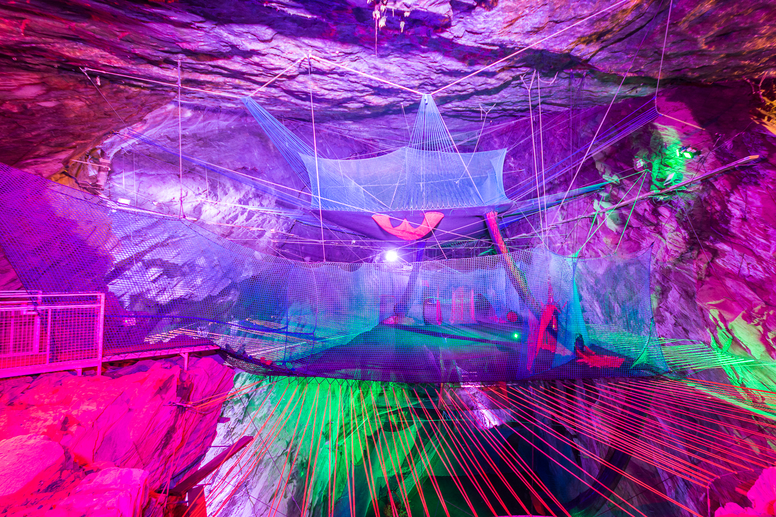
[[[251,98],[245,105],[296,170],[310,177],[312,208],[359,212],[511,204],[504,194],[506,150],[459,153],[431,95],[423,95],[408,146],[379,157],[329,160]]]

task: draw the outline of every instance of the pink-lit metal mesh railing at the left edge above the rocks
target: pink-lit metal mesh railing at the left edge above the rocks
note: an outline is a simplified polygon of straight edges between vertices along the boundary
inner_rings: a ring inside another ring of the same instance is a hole
[[[102,365],[102,293],[0,291],[0,378]]]

